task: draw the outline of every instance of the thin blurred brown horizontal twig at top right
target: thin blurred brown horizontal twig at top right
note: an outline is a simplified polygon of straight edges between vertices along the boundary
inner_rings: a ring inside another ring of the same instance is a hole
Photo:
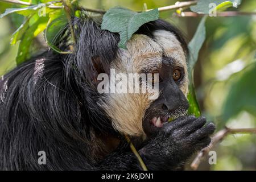
[[[181,14],[174,14],[175,16],[192,16],[192,17],[197,17],[197,16],[204,16],[206,14],[201,14],[201,13],[195,13],[192,11],[183,11]],[[256,12],[242,12],[242,11],[223,11],[223,12],[218,12],[216,13],[216,16],[238,16],[238,15],[256,15]]]

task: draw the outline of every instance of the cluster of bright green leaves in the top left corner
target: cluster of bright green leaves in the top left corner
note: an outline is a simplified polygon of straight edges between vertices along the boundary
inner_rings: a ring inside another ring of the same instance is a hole
[[[16,15],[13,16],[23,15],[25,17],[23,18],[23,23],[20,24],[19,22],[22,18],[19,16],[19,19],[17,19],[19,22],[17,22],[17,24],[20,24],[20,26],[11,38],[12,45],[20,42],[18,54],[16,56],[17,65],[30,58],[33,40],[44,30],[46,42],[49,47],[56,52],[63,53],[54,45],[60,30],[68,23],[63,9],[55,10],[49,8],[48,6],[52,4],[59,5],[59,3],[56,2],[49,3],[49,0],[33,0],[32,3],[38,4],[19,8],[9,8],[5,10],[5,13],[0,15],[0,18],[2,18],[3,16],[16,13]]]

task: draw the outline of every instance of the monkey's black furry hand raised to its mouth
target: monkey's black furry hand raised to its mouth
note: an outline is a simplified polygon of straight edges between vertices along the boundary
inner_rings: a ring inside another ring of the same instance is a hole
[[[213,123],[204,126],[205,123],[204,117],[192,115],[165,123],[156,137],[139,150],[148,169],[179,169],[192,154],[207,147],[215,126]]]

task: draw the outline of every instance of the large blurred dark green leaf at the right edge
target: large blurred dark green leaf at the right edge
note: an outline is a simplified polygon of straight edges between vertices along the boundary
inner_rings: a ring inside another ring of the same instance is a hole
[[[256,61],[243,69],[241,74],[234,75],[229,94],[222,109],[221,125],[229,118],[236,117],[242,110],[256,117]]]

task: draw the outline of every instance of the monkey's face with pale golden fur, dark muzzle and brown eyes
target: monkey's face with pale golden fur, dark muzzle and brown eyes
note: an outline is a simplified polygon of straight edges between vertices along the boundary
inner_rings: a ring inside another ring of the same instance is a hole
[[[112,119],[114,128],[132,136],[151,135],[168,118],[179,117],[188,109],[185,97],[188,92],[187,64],[181,43],[169,31],[156,30],[152,34],[154,38],[133,35],[127,49],[119,49],[110,68],[115,74],[158,74],[158,97],[150,99],[152,92],[109,93],[105,94],[104,104],[101,104]],[[147,84],[141,80],[140,87],[146,88]]]

